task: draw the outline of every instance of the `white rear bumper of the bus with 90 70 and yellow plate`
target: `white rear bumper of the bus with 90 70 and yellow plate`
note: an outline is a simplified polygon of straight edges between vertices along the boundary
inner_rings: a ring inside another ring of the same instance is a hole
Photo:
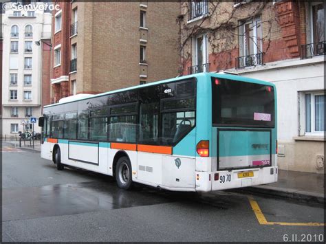
[[[277,166],[216,172],[196,172],[196,191],[226,190],[277,181]]]

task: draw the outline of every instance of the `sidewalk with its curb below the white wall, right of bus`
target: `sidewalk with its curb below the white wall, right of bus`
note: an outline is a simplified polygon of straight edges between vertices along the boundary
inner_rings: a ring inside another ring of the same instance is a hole
[[[279,180],[272,184],[242,188],[244,191],[324,203],[324,174],[279,170]]]

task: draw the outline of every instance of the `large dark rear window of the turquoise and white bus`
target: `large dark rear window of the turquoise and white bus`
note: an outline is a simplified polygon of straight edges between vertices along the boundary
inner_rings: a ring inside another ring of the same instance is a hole
[[[274,87],[212,78],[213,124],[274,127]]]

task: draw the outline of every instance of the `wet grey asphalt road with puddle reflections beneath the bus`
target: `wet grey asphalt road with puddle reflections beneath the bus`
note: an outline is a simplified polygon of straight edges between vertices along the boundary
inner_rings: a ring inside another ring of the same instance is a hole
[[[3,144],[3,241],[284,241],[324,238],[323,226],[263,225],[248,196],[137,186],[111,177],[56,170],[39,153]],[[253,196],[265,219],[324,223],[323,206]],[[316,239],[316,240],[314,240]]]

